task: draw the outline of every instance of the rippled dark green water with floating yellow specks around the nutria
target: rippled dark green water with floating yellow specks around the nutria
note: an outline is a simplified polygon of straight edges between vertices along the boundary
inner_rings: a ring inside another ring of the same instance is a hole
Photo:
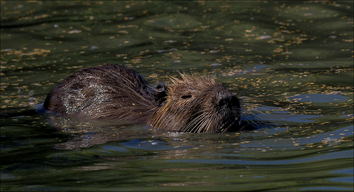
[[[353,1],[0,5],[1,191],[353,191]],[[151,85],[215,76],[267,125],[171,133],[35,111],[104,63]]]

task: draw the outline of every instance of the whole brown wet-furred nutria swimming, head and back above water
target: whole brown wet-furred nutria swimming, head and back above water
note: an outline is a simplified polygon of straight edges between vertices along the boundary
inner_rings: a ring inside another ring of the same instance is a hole
[[[153,89],[125,66],[83,68],[51,90],[44,107],[84,119],[133,121],[169,131],[217,133],[242,128],[236,95],[212,77],[181,76]]]

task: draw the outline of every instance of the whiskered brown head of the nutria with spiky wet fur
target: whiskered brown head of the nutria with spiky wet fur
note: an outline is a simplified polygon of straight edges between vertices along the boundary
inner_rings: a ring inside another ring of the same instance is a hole
[[[149,120],[150,126],[195,133],[233,131],[239,126],[240,103],[236,95],[212,77],[181,75],[182,79],[170,77],[172,84],[156,87],[158,107]]]

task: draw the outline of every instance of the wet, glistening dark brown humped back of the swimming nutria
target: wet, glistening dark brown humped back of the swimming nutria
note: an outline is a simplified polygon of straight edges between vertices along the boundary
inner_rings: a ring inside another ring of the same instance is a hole
[[[84,68],[59,83],[46,97],[46,110],[84,119],[147,122],[155,108],[153,89],[131,68]]]

